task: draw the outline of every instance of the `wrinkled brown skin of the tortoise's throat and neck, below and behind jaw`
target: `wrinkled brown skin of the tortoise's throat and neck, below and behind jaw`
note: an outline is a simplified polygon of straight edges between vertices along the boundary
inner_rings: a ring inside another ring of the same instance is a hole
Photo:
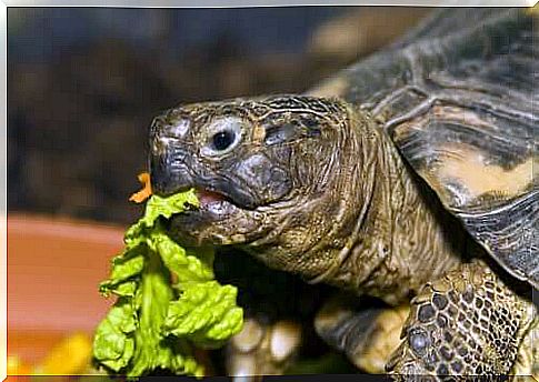
[[[398,304],[458,265],[463,230],[440,217],[446,211],[438,200],[420,189],[369,115],[350,109],[348,118],[351,128],[338,132],[331,160],[310,163],[328,167],[310,180],[322,185],[319,197],[298,202],[247,250],[309,282]]]

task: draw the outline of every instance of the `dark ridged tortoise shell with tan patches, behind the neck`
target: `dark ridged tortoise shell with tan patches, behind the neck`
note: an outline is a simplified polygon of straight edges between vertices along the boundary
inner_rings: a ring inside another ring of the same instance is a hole
[[[311,93],[367,110],[469,233],[539,285],[538,9],[439,9]]]

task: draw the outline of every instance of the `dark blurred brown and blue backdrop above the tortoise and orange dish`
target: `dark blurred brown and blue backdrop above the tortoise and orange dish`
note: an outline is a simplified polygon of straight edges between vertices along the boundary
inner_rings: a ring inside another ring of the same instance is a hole
[[[127,224],[152,118],[300,92],[390,41],[406,8],[8,9],[8,209]],[[389,21],[388,21],[389,20]]]

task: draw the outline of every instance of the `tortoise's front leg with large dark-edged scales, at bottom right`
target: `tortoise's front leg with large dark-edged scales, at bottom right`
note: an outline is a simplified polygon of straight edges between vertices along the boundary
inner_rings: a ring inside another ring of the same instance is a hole
[[[425,285],[412,300],[402,343],[387,370],[397,380],[531,375],[538,362],[532,343],[537,330],[531,301],[517,295],[489,268],[463,264]]]

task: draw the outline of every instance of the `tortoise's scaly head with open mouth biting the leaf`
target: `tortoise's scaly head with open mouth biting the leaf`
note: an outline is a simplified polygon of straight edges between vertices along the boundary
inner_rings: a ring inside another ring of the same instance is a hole
[[[194,188],[200,200],[171,220],[172,235],[186,245],[238,244],[275,268],[301,270],[312,248],[337,239],[336,219],[347,223],[342,200],[358,163],[349,160],[351,114],[336,99],[273,96],[182,105],[156,118],[153,192]]]

